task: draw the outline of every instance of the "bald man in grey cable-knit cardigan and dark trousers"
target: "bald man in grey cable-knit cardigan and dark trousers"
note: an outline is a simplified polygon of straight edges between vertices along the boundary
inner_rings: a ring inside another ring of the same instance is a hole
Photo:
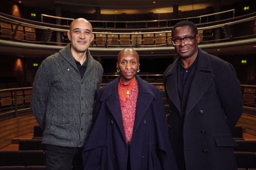
[[[43,130],[47,170],[83,169],[81,152],[103,74],[88,49],[93,38],[90,22],[75,19],[68,31],[71,44],[46,58],[36,73],[31,110]]]

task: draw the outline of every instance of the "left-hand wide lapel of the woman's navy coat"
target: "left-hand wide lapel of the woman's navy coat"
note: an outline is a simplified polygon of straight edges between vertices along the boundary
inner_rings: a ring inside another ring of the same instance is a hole
[[[122,111],[121,111],[121,105],[120,105],[120,100],[118,95],[119,80],[120,80],[120,77],[116,78],[114,81],[110,82],[106,86],[106,89],[104,90],[104,93],[100,100],[101,101],[106,100],[106,105],[109,108],[111,114],[113,115],[115,121],[117,122],[117,126],[120,129],[120,132],[126,143],[124,123],[122,120]]]

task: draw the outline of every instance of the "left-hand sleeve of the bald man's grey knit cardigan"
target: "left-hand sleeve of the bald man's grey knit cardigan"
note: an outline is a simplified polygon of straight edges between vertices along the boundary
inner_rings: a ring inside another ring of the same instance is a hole
[[[51,85],[49,72],[49,67],[43,61],[36,72],[32,88],[31,110],[42,130],[45,129],[46,103]]]

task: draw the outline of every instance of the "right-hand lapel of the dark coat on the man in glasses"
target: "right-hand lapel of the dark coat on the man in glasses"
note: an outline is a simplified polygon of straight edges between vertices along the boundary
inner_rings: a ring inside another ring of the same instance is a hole
[[[188,102],[186,104],[186,114],[188,114],[196,103],[201,99],[214,75],[212,74],[209,56],[202,49],[198,48],[196,71],[189,90]]]

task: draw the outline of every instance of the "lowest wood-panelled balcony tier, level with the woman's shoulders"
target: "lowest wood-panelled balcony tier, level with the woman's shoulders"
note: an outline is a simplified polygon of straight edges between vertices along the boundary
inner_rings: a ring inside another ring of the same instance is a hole
[[[114,80],[118,74],[103,75],[102,86],[107,85]],[[141,78],[157,86],[159,89],[163,87],[162,74],[139,74]],[[256,115],[256,85],[241,85],[243,95],[244,113]],[[0,90],[0,121],[8,118],[14,118],[21,115],[31,114],[32,87],[12,88]]]

